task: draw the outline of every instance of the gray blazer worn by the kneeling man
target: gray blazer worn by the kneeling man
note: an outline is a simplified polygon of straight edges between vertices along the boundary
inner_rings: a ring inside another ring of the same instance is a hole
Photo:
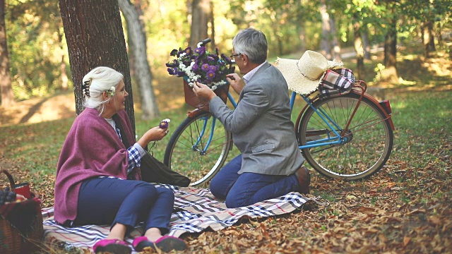
[[[303,164],[290,121],[287,83],[270,63],[264,63],[245,85],[237,109],[231,110],[220,97],[214,97],[209,110],[232,133],[242,152],[239,174],[290,175]]]

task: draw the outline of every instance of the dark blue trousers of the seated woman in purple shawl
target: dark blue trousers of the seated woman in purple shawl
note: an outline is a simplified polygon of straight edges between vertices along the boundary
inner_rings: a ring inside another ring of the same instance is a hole
[[[166,234],[173,205],[174,193],[168,188],[155,188],[145,181],[89,179],[78,193],[74,225],[120,223],[129,233],[138,222],[144,222],[145,231],[156,227]]]

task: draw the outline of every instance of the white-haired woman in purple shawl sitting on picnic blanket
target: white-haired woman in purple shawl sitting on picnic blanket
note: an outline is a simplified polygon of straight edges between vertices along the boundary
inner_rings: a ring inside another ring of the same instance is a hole
[[[83,90],[85,109],[73,122],[57,165],[55,220],[64,226],[111,224],[107,238],[95,243],[95,253],[131,253],[124,237],[138,222],[144,222],[145,232],[133,241],[135,250],[184,250],[182,239],[163,236],[174,193],[140,181],[143,147],[165,137],[167,128],[150,128],[135,142],[124,111],[129,94],[123,75],[112,68],[86,74]],[[133,145],[125,147],[123,138]]]

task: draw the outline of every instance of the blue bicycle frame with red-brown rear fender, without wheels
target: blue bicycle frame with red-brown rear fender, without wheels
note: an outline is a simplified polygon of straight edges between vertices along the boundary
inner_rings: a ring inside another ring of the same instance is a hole
[[[311,148],[311,147],[320,147],[320,146],[325,146],[325,145],[340,145],[340,144],[344,144],[347,143],[348,138],[347,138],[347,129],[348,126],[350,125],[350,122],[353,119],[353,116],[355,115],[355,112],[357,111],[359,104],[362,100],[363,97],[367,97],[367,99],[370,99],[372,102],[374,102],[379,109],[381,109],[381,111],[383,111],[383,113],[386,115],[385,119],[382,119],[381,121],[386,121],[388,120],[388,122],[391,125],[391,128],[394,130],[394,124],[393,121],[391,119],[391,115],[388,114],[388,112],[386,112],[385,109],[383,109],[383,107],[381,107],[381,105],[379,104],[378,101],[376,101],[376,99],[374,99],[374,97],[371,97],[370,95],[368,95],[365,91],[367,90],[367,84],[364,83],[364,81],[359,80],[357,81],[357,83],[355,83],[354,85],[354,89],[352,89],[350,92],[355,92],[357,93],[360,97],[359,97],[359,101],[357,102],[356,106],[355,106],[355,110],[352,112],[350,119],[348,120],[345,128],[341,128],[340,126],[338,126],[337,123],[335,123],[335,121],[333,119],[331,119],[330,116],[328,116],[328,114],[326,114],[326,112],[324,112],[321,109],[315,109],[313,104],[314,102],[316,102],[317,99],[321,99],[319,97],[319,95],[317,95],[316,97],[310,99],[309,95],[305,96],[305,95],[299,95],[297,94],[297,92],[292,92],[291,96],[290,96],[290,110],[293,109],[294,105],[295,105],[295,99],[297,97],[297,95],[301,96],[302,99],[304,99],[304,102],[306,102],[307,104],[304,106],[304,108],[302,109],[302,111],[300,112],[298,119],[297,119],[297,125],[299,123],[299,119],[302,117],[302,115],[304,114],[304,111],[306,111],[306,109],[308,107],[311,107],[316,114],[319,115],[319,117],[326,123],[326,125],[328,126],[329,129],[326,130],[316,130],[316,131],[311,131],[309,133],[307,133],[307,136],[311,136],[311,135],[319,135],[319,134],[326,134],[328,136],[328,138],[323,138],[321,140],[314,140],[314,141],[308,141],[306,145],[299,145],[299,149],[304,149],[304,148]],[[361,90],[358,91],[357,89]],[[232,106],[234,107],[234,109],[237,107],[237,102],[235,101],[235,99],[232,97],[232,95],[230,94],[230,92],[227,93],[227,97],[230,99],[230,102],[232,104]],[[187,116],[189,117],[194,117],[197,116],[198,114],[200,114],[202,112],[201,109],[194,109],[193,111],[190,111]],[[210,140],[212,140],[213,137],[213,129],[215,128],[215,121],[217,119],[213,119],[213,123],[212,123],[212,131],[210,131],[210,137],[208,139],[208,143],[206,144],[204,150],[200,150],[198,152],[201,152],[201,154],[206,154],[206,151],[208,150],[208,147],[210,145]],[[201,137],[204,134],[205,128],[206,128],[206,122],[207,119],[205,120],[204,123],[204,127],[203,127],[203,131],[200,133],[200,136],[198,138],[198,140],[196,141],[196,144],[192,147],[193,150],[198,150],[198,143],[201,140]],[[380,122],[380,121],[379,121]],[[376,122],[376,123],[379,123]],[[374,124],[376,124],[374,123]],[[295,130],[298,129],[298,126],[295,126]],[[331,135],[331,133],[333,135]]]

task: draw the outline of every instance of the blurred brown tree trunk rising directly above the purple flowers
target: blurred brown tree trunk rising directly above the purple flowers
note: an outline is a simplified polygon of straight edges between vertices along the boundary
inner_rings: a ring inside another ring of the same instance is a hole
[[[208,37],[208,18],[210,14],[211,0],[193,0],[191,11],[191,35],[190,46],[196,47],[198,42]]]

